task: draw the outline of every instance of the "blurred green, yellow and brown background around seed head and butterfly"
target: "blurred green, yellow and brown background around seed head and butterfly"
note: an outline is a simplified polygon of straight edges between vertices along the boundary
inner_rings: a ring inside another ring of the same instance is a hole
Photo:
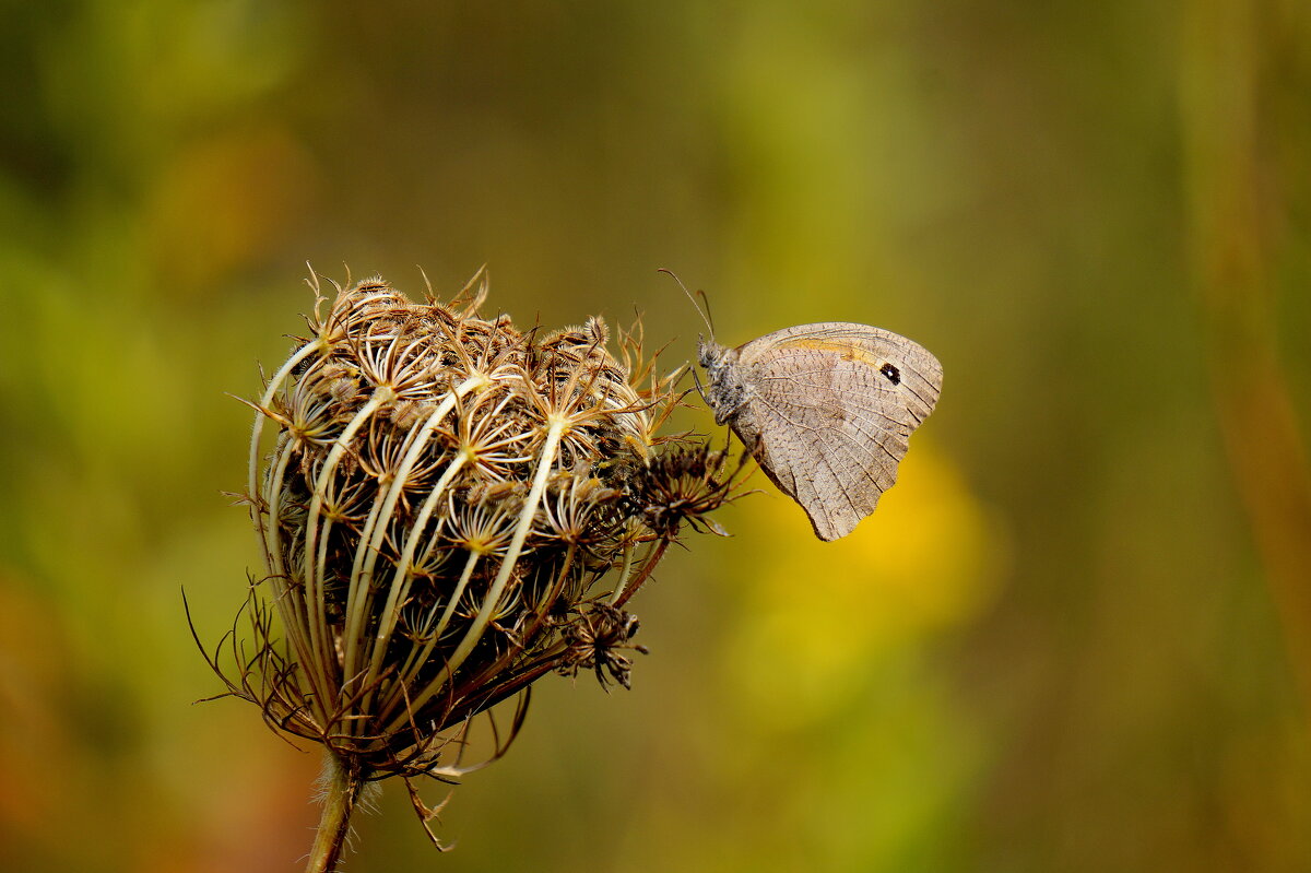
[[[3,9],[0,869],[299,869],[319,755],[191,705],[180,589],[212,641],[258,566],[224,392],[309,261],[947,374],[856,534],[756,476],[632,692],[347,869],[1311,870],[1303,0]]]

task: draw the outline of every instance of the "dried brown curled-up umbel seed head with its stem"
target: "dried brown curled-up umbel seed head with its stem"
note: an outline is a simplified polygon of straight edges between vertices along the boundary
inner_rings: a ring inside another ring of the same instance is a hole
[[[637,337],[616,359],[599,319],[520,333],[480,317],[485,283],[471,284],[446,305],[376,279],[323,315],[317,296],[252,404],[267,575],[225,680],[330,752],[311,869],[334,864],[364,781],[454,780],[473,716],[535,679],[627,686],[621,651],[644,650],[625,602],[735,481],[724,452],[657,436],[678,374],[642,363]]]

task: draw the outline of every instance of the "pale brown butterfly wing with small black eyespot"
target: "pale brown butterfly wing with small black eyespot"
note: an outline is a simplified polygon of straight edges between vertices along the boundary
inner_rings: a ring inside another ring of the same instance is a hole
[[[738,351],[751,392],[730,423],[815,536],[846,536],[897,481],[941,364],[905,337],[846,322],[787,328]]]

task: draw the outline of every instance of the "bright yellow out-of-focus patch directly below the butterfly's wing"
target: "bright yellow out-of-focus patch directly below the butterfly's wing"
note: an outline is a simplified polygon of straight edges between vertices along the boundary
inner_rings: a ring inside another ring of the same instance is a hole
[[[734,524],[749,565],[725,651],[758,717],[822,717],[880,657],[969,621],[995,590],[1004,537],[932,444],[916,443],[874,515],[834,543],[760,488]]]

